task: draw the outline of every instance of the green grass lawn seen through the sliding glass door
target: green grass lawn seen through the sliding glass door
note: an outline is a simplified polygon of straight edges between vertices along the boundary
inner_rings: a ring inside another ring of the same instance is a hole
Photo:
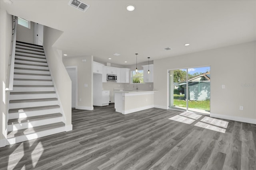
[[[184,94],[174,94],[174,106],[186,107],[186,101],[183,99]],[[188,108],[202,109],[210,111],[210,100],[188,101]]]

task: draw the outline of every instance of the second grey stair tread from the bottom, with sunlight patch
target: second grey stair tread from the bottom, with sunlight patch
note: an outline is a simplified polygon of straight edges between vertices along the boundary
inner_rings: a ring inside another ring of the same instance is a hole
[[[50,119],[55,117],[62,117],[61,113],[52,113],[47,115],[38,115],[38,116],[31,116],[31,117],[23,117],[23,118],[17,118],[17,119],[9,119],[8,125],[14,125],[18,123],[25,123],[25,122],[31,122],[31,121],[38,121],[43,119]]]

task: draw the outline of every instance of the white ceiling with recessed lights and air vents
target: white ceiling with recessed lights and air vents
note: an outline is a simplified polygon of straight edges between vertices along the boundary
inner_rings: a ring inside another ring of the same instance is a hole
[[[69,0],[12,2],[1,0],[1,10],[64,31],[54,46],[68,57],[93,55],[103,63],[124,66],[136,63],[135,53],[140,63],[256,40],[255,0],[82,0],[86,12]]]

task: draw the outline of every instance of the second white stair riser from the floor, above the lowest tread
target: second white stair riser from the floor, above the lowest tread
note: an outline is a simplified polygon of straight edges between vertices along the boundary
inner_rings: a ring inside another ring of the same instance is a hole
[[[26,129],[30,127],[36,127],[41,125],[48,125],[51,123],[58,123],[62,121],[62,117],[54,117],[49,119],[42,119],[42,120],[36,120],[36,121],[30,121],[30,122],[24,122],[24,123],[17,123],[14,125],[8,125],[8,132],[10,131],[17,131],[19,129]]]

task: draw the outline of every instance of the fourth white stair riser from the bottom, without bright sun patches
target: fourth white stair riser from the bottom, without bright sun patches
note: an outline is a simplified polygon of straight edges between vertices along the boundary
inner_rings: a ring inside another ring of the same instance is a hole
[[[9,109],[25,108],[25,107],[37,107],[37,106],[50,106],[58,105],[58,100],[43,101],[43,102],[22,102],[22,103],[10,103]]]

